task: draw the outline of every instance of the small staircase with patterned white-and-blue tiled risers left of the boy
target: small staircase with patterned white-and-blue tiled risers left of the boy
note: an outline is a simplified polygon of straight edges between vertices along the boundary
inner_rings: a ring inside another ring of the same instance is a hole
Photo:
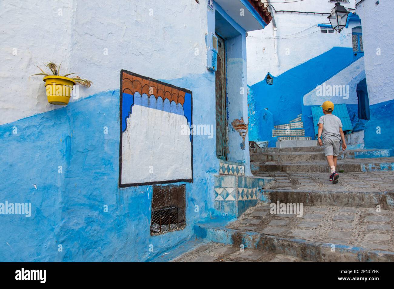
[[[274,125],[272,137],[277,138],[277,147],[303,147],[315,145],[310,136],[305,136],[302,114],[289,123]]]

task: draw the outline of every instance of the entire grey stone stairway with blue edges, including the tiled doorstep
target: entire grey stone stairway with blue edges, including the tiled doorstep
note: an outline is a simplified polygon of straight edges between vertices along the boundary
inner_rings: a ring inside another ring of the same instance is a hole
[[[345,173],[332,184],[322,147],[250,148],[255,177],[225,175],[222,166],[229,164],[221,163],[215,191],[228,187],[234,198],[215,201],[221,217],[197,223],[200,247],[182,250],[177,260],[394,261],[391,155],[389,149],[341,151],[337,170]],[[249,188],[252,197],[245,199]],[[290,206],[297,212],[288,212]]]

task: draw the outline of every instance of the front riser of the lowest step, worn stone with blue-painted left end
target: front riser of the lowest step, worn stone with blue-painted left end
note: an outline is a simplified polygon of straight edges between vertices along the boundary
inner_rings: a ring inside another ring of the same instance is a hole
[[[335,245],[331,243],[307,241],[301,239],[270,236],[251,231],[239,231],[230,228],[206,228],[196,225],[194,232],[197,238],[208,238],[210,241],[232,244],[238,248],[253,248],[316,262],[367,262],[394,261],[394,253]]]

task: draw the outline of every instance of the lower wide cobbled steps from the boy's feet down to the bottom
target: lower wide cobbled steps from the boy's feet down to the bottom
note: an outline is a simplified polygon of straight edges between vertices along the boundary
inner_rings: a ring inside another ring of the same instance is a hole
[[[260,175],[275,179],[260,193],[261,202],[238,219],[195,225],[196,237],[238,250],[243,245],[244,255],[255,258],[270,253],[293,261],[394,261],[393,171],[344,173],[338,184],[327,173]],[[271,212],[272,204],[303,206],[297,213]]]

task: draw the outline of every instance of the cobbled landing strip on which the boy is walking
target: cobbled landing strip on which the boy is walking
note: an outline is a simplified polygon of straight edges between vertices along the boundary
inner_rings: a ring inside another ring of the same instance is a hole
[[[394,171],[339,173],[339,182],[332,184],[328,173],[261,172],[256,176],[273,177],[264,189],[293,191],[394,191]]]

